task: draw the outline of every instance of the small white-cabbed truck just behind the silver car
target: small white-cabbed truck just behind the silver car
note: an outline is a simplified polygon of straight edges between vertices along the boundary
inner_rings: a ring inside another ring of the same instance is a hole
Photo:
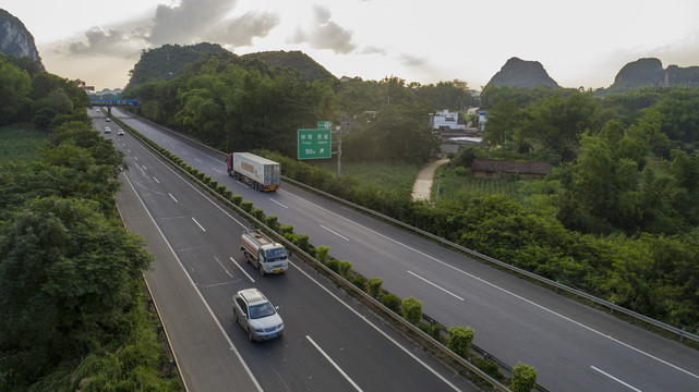
[[[289,269],[287,249],[260,230],[248,230],[240,238],[245,258],[260,269],[260,274],[281,273]]]

